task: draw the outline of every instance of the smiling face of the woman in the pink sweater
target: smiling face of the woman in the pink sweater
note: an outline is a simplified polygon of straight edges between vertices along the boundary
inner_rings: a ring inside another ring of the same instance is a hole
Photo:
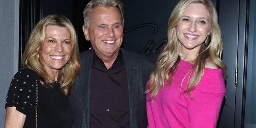
[[[176,26],[180,50],[198,52],[207,35],[210,35],[211,23],[208,9],[203,4],[189,4]]]

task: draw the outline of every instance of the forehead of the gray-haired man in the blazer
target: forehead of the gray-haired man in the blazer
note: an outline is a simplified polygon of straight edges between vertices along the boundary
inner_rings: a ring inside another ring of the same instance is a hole
[[[92,9],[90,20],[94,22],[101,22],[104,20],[122,22],[122,16],[117,7],[96,6]]]

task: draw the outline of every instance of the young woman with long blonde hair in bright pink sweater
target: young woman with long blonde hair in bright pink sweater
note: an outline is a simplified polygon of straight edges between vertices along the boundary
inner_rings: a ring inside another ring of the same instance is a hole
[[[215,128],[226,66],[210,0],[180,0],[147,85],[148,128]]]

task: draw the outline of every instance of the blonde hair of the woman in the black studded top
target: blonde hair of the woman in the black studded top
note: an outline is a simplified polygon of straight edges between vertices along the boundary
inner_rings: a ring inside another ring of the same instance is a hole
[[[60,69],[58,74],[58,81],[60,81],[60,89],[62,93],[66,96],[70,94],[72,83],[75,77],[80,72],[80,57],[78,42],[76,37],[76,31],[74,26],[66,18],[66,16],[60,15],[48,15],[38,22],[34,30],[32,31],[28,44],[26,45],[22,64],[24,67],[31,68],[38,73],[39,80],[43,86],[46,88],[52,88],[54,86],[54,80],[47,74],[44,65],[39,61],[38,54],[44,45],[46,40],[45,28],[48,25],[66,27],[70,32],[70,45],[71,45],[71,55],[68,64]]]

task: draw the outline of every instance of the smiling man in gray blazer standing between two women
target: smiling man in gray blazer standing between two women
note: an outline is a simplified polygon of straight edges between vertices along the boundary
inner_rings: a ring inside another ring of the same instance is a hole
[[[146,128],[145,86],[153,64],[120,48],[124,14],[119,0],[91,0],[84,8],[81,72],[71,91],[73,128]]]

